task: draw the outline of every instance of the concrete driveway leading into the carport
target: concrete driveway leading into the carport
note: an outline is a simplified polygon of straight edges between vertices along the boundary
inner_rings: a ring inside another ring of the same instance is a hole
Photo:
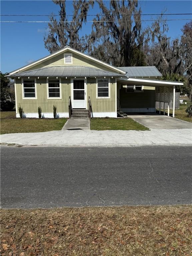
[[[128,114],[127,117],[132,118],[138,123],[148,127],[149,129],[191,129],[192,123],[179,120],[170,116],[151,114]]]

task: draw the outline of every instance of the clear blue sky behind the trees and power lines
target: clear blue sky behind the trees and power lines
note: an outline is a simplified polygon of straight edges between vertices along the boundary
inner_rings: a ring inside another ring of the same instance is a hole
[[[107,4],[109,1],[106,1]],[[160,13],[166,10],[166,13],[192,13],[192,1],[139,1],[142,8],[142,13]],[[2,14],[41,14],[47,15],[50,13],[58,14],[59,6],[52,1],[9,1],[1,0],[1,15]],[[72,1],[66,3],[67,14],[72,14]],[[97,14],[97,4],[90,9],[89,14]],[[88,17],[91,20],[93,17]],[[154,16],[153,16],[154,18]],[[191,15],[176,15],[168,16],[171,19],[191,19]],[[151,16],[143,16],[142,19],[151,19]],[[48,21],[48,17],[2,17],[1,21]],[[169,32],[168,36],[176,38],[181,35],[181,28],[189,21],[168,21]],[[146,26],[149,22],[143,22]],[[81,31],[82,35],[91,31],[92,23],[86,23]],[[47,23],[1,23],[1,72],[10,72],[21,66],[40,59],[49,54],[44,47],[43,36],[46,31]]]

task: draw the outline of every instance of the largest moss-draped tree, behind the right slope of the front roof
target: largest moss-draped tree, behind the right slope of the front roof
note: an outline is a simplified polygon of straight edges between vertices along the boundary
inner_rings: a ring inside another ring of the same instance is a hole
[[[111,0],[109,8],[104,1],[97,3],[101,13],[87,36],[88,53],[114,66],[145,65],[143,46],[161,33],[161,21],[143,29],[138,1]],[[163,26],[164,32],[166,24]]]

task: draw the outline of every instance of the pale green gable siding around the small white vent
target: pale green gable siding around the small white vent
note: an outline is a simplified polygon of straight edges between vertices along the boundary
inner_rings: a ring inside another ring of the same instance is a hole
[[[94,68],[104,69],[106,71],[118,73],[114,69],[107,68],[106,66],[96,63],[93,60],[87,59],[87,58],[85,58],[81,55],[78,55],[76,53],[72,53],[73,64],[64,64],[64,54],[65,53],[71,53],[71,52],[66,51],[64,53],[61,53],[57,56],[52,57],[49,60],[45,60],[42,63],[39,63],[33,67],[26,68],[25,70],[33,70],[33,69],[38,69],[38,68],[43,68],[43,67],[50,67],[50,66],[88,66],[88,67],[94,67]]]

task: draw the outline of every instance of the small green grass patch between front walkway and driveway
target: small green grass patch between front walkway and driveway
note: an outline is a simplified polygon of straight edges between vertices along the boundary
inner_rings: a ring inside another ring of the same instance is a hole
[[[142,124],[137,123],[131,118],[92,118],[91,130],[149,130]]]

